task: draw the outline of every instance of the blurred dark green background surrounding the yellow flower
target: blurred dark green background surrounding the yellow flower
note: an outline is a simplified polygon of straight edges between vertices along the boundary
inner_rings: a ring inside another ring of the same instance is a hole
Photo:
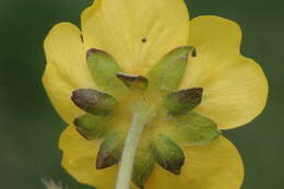
[[[242,189],[284,188],[284,1],[191,0],[191,17],[214,14],[242,28],[242,52],[257,60],[270,82],[268,107],[248,127],[226,131],[242,154]],[[64,129],[43,88],[43,40],[52,25],[79,25],[88,0],[0,1],[0,188],[43,189],[40,179],[78,184],[60,166],[57,147]],[[251,99],[253,101],[253,99]]]

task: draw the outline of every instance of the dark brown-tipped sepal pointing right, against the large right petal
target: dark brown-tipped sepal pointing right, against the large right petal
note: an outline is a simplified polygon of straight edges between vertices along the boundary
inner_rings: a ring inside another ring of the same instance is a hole
[[[171,115],[184,115],[201,103],[202,88],[194,87],[168,94],[164,104]]]

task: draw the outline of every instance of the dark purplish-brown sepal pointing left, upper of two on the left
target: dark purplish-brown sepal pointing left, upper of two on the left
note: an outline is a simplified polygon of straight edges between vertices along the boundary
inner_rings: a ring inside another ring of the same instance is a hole
[[[113,114],[117,105],[111,95],[92,88],[73,91],[71,99],[81,109],[98,116]]]

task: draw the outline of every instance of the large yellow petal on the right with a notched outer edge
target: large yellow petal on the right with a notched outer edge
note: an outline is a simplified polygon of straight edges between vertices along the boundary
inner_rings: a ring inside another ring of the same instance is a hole
[[[190,22],[189,45],[198,56],[181,87],[203,87],[197,111],[232,129],[251,121],[265,106],[268,81],[261,68],[240,55],[241,31],[226,19],[200,16]]]

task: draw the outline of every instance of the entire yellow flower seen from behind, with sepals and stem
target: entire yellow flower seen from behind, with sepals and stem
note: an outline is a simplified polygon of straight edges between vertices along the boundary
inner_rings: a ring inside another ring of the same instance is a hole
[[[218,130],[250,122],[268,97],[262,69],[240,44],[238,24],[190,19],[184,0],[98,0],[81,29],[56,25],[43,83],[69,125],[62,167],[99,189],[240,188],[241,157]]]

